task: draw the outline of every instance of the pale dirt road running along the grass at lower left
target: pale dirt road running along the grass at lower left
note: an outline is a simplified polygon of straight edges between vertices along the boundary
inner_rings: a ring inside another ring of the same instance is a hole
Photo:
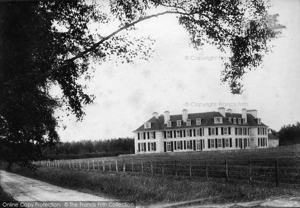
[[[0,171],[0,184],[5,192],[21,201],[116,201],[64,189],[17,174]]]

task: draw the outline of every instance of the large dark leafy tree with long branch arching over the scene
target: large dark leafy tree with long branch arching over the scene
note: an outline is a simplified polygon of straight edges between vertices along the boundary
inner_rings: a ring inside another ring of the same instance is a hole
[[[131,63],[136,57],[151,57],[154,40],[129,36],[139,22],[174,14],[193,47],[208,42],[221,51],[228,48],[232,56],[224,62],[222,81],[230,84],[232,93],[242,92],[240,79],[246,70],[261,64],[273,37],[263,21],[267,7],[262,0],[110,0],[109,18],[95,2],[87,5],[82,0],[1,4],[1,158],[25,165],[59,140],[56,108],[66,104],[66,111],[82,119],[82,106],[94,98],[78,82],[91,77],[89,60],[101,62],[114,54],[116,61]],[[166,10],[148,14],[156,8]],[[109,19],[117,19],[120,27],[104,37],[91,34],[89,22]],[[62,98],[48,94],[52,85],[61,88]]]

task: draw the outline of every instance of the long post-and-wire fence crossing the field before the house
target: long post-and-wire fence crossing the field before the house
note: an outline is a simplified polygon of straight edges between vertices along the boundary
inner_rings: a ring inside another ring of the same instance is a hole
[[[188,178],[220,178],[300,185],[300,161],[295,160],[172,160],[80,159],[33,162],[39,167],[100,172],[144,173]]]

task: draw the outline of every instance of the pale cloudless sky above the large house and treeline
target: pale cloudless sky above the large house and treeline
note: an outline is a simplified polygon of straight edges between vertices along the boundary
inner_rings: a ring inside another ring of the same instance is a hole
[[[218,107],[234,113],[256,109],[261,121],[277,131],[299,121],[300,2],[270,3],[269,14],[278,13],[279,23],[286,26],[284,37],[272,40],[275,47],[264,57],[262,67],[244,75],[241,95],[231,94],[228,84],[220,81],[219,56],[228,57],[228,53],[210,45],[193,49],[174,15],[151,18],[138,23],[131,35],[155,39],[153,58],[134,64],[107,61],[95,65],[94,76],[86,84],[87,93],[96,98],[84,107],[83,121],[77,122],[73,115],[63,118],[66,129],[57,129],[61,141],[133,137],[132,131],[150,119],[152,112],[163,114],[165,110],[172,115],[181,114],[182,109],[188,113],[217,111]],[[101,32],[107,35],[117,26],[114,22]]]

